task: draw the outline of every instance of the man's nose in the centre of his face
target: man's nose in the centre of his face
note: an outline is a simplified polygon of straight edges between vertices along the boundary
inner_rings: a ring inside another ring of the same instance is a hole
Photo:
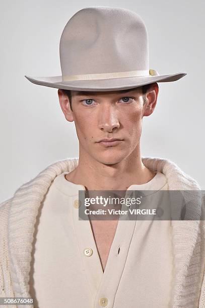
[[[99,112],[98,127],[106,132],[112,132],[120,127],[117,110],[112,105],[104,105]]]

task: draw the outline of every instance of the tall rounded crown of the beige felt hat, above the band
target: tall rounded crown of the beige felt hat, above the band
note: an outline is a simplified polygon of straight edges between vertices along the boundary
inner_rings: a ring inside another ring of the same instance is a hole
[[[62,76],[148,70],[146,26],[126,9],[82,9],[63,29],[60,65]]]

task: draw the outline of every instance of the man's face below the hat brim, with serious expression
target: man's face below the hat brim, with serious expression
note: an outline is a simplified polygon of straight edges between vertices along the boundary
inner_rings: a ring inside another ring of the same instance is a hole
[[[75,121],[80,153],[86,152],[103,164],[127,158],[139,145],[147,106],[140,88],[127,92],[72,91],[73,118],[70,115],[68,120]]]

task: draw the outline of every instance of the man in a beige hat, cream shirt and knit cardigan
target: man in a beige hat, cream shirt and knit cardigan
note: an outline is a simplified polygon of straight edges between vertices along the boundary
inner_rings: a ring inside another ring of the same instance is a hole
[[[27,79],[59,89],[79,160],[54,163],[2,204],[1,296],[31,296],[40,308],[204,307],[200,188],[140,150],[157,82],[185,73],[149,69],[146,27],[119,8],[77,12],[63,30],[60,62],[62,76]],[[187,190],[195,219],[79,220],[79,191],[96,190]]]

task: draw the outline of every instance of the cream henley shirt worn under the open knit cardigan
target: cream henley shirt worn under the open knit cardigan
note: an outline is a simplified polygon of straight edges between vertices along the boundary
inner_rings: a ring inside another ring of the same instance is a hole
[[[52,182],[37,217],[30,294],[39,308],[170,307],[173,252],[170,220],[119,220],[103,272],[89,220],[76,206],[84,186]],[[128,190],[168,190],[158,172]]]

